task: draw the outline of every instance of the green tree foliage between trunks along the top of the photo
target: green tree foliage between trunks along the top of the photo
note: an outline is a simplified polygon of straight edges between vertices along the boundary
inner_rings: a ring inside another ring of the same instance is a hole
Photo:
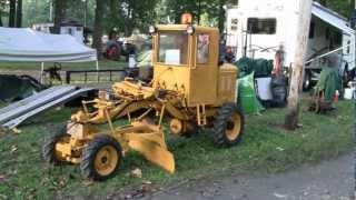
[[[23,27],[52,22],[55,2],[61,0],[23,0]],[[322,4],[349,17],[354,0],[317,0]],[[178,22],[181,13],[192,13],[196,23],[219,27],[225,21],[225,4],[237,4],[238,0],[102,0],[103,31],[130,34],[135,29],[146,31],[149,24]],[[96,0],[67,0],[65,19],[75,20],[89,28],[95,24]],[[0,24],[8,16],[8,0],[0,0]],[[1,24],[1,26],[2,26]]]

